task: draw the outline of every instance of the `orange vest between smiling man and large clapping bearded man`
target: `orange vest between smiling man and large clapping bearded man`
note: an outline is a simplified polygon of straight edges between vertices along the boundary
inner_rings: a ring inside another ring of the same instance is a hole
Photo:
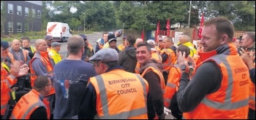
[[[165,107],[170,106],[170,101],[173,99],[173,95],[178,92],[178,85],[181,79],[181,70],[178,68],[178,64],[173,65],[170,68],[167,84],[165,87]]]

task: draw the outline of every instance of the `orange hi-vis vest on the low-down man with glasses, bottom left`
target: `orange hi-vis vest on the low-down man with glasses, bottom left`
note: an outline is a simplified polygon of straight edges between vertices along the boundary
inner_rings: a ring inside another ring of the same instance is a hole
[[[46,109],[47,117],[50,119],[50,105],[47,98],[32,89],[29,93],[20,98],[13,108],[10,119],[29,119],[31,113],[39,107]]]

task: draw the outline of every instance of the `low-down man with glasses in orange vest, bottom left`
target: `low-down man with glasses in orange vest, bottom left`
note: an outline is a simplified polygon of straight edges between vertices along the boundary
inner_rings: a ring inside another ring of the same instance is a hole
[[[20,98],[10,119],[50,119],[50,106],[45,95],[50,93],[53,82],[48,76],[38,76],[33,89]]]

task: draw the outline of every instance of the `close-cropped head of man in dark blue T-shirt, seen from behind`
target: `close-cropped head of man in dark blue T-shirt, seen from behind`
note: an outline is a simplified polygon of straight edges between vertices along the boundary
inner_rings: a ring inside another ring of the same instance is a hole
[[[67,40],[67,49],[69,51],[69,55],[78,55],[80,49],[84,46],[84,41],[81,36],[74,35],[70,36]]]

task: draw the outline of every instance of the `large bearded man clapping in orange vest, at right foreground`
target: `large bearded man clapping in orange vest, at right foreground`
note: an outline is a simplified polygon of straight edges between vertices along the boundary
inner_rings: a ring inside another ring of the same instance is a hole
[[[247,119],[249,70],[233,44],[234,26],[226,17],[203,23],[203,61],[189,81],[185,53],[179,52],[181,68],[177,101],[183,119]]]

